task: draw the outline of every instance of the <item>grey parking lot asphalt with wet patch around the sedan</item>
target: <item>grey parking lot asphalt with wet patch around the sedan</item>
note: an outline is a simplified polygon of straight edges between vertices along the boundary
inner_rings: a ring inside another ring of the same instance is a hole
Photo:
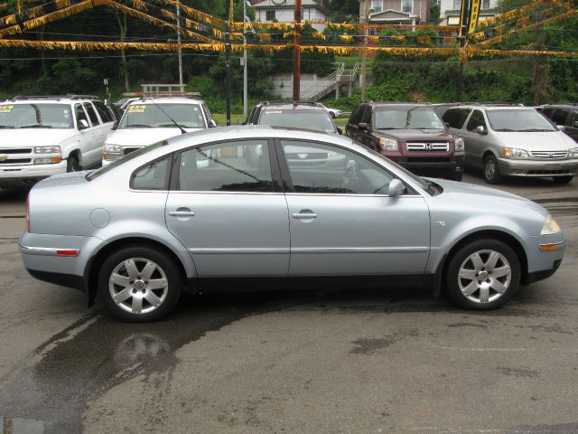
[[[578,180],[498,188],[545,206],[568,241],[558,272],[499,310],[301,288],[182,297],[143,325],[30,277],[25,192],[0,191],[3,432],[576,433]]]

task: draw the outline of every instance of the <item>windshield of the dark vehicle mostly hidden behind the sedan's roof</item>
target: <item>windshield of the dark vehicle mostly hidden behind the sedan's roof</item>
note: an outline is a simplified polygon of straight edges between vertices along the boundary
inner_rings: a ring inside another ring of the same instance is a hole
[[[312,129],[322,133],[336,133],[337,130],[325,110],[279,110],[267,109],[259,120],[261,125]]]

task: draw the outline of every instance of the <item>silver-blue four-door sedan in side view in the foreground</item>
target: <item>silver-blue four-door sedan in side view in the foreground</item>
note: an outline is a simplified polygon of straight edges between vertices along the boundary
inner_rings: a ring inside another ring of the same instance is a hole
[[[165,316],[183,290],[263,282],[422,286],[490,309],[552,275],[564,252],[536,203],[274,127],[191,133],[53,176],[31,190],[26,221],[26,269],[126,321]]]

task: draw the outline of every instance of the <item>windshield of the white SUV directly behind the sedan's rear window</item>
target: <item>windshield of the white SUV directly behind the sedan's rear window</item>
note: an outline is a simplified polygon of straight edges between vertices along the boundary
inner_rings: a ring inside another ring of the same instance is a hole
[[[126,109],[125,116],[120,121],[118,129],[137,127],[176,128],[171,118],[183,128],[205,127],[199,104],[162,103],[157,106],[154,104],[131,104]]]

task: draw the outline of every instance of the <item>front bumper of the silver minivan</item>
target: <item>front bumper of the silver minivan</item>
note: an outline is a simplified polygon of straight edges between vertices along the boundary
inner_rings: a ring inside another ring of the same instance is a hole
[[[578,174],[578,159],[573,160],[498,160],[499,173],[508,176],[573,176]]]

